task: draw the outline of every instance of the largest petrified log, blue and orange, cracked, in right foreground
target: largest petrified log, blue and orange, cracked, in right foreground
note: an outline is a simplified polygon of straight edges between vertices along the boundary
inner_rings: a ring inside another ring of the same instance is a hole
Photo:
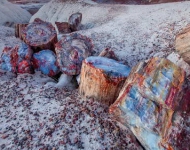
[[[181,100],[185,72],[169,60],[153,58],[134,67],[110,113],[129,126],[147,150],[169,149],[168,129]]]

